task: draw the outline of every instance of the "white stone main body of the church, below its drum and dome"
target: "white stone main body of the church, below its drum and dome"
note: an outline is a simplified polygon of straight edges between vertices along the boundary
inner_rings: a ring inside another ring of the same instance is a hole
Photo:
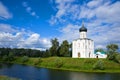
[[[80,53],[80,57],[78,56]],[[94,42],[89,39],[78,39],[73,41],[72,45],[73,58],[95,58]]]

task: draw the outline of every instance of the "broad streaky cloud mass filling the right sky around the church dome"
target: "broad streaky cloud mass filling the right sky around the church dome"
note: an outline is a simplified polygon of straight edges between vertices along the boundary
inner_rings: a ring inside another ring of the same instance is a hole
[[[95,41],[96,48],[105,48],[108,43],[117,43],[120,47],[120,1],[91,0],[80,4],[77,0],[55,0],[55,3],[57,12],[50,23],[66,23],[61,26],[59,39],[79,38],[78,30],[84,20],[88,38]]]

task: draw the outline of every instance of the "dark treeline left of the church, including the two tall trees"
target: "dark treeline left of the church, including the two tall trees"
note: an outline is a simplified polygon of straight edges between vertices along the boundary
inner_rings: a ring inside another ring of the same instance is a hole
[[[25,48],[0,48],[0,57],[3,56],[28,56],[28,57],[50,57],[50,56],[61,56],[70,57],[72,54],[71,44],[67,40],[64,40],[61,45],[59,45],[58,40],[51,40],[52,46],[45,51],[35,50],[35,49],[25,49]]]

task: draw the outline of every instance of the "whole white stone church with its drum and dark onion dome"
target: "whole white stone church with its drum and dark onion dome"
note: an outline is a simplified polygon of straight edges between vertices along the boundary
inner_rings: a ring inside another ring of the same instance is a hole
[[[72,57],[73,58],[95,58],[94,54],[94,41],[87,38],[87,28],[82,27],[79,29],[80,38],[72,43]]]

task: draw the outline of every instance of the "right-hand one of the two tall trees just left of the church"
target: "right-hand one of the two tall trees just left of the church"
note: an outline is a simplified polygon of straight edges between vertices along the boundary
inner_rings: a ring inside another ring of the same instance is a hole
[[[69,54],[69,43],[67,40],[64,40],[60,46],[60,56],[65,56]]]

